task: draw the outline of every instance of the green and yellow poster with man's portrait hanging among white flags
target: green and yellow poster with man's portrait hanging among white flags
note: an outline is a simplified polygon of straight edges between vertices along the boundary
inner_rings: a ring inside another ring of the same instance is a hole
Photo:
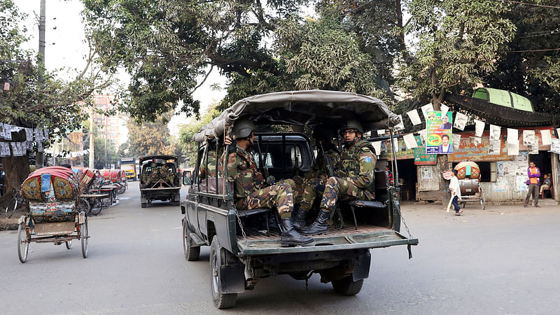
[[[453,153],[453,136],[451,132],[451,113],[442,116],[441,111],[428,111],[426,120],[426,153],[449,154]]]

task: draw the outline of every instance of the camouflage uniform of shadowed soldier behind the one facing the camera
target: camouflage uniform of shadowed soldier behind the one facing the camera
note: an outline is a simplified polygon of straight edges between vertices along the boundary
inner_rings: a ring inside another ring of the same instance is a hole
[[[334,171],[336,165],[340,161],[340,155],[334,145],[330,148],[325,148],[325,155],[331,169]],[[309,211],[313,206],[316,197],[323,195],[321,190],[317,190],[316,186],[325,186],[328,179],[328,169],[325,163],[325,157],[321,151],[318,152],[315,165],[311,167],[311,171],[305,174],[305,179],[302,185],[302,195],[295,197],[295,202],[300,204],[300,209]]]

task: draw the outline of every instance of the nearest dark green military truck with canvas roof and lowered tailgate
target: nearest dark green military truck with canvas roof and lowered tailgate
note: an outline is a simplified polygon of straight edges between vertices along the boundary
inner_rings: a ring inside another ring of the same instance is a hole
[[[257,125],[313,128],[326,124],[336,130],[349,117],[358,117],[365,130],[391,128],[400,121],[379,99],[365,95],[322,90],[275,92],[241,99],[195,134],[197,163],[192,173],[183,174],[183,183],[189,186],[188,197],[181,202],[183,250],[186,260],[197,260],[201,246],[210,246],[209,279],[216,307],[233,307],[237,294],[255,288],[259,279],[277,274],[307,281],[318,273],[321,282],[332,283],[335,292],[356,295],[369,274],[370,248],[407,245],[412,258],[410,246],[419,241],[400,233],[398,188],[390,185],[384,170],[375,171],[375,200],[339,202],[328,232],[315,235],[314,246],[296,247],[281,246],[275,209],[236,209],[227,168],[204,178],[199,174],[202,165],[219,169],[220,159],[212,159],[213,165],[209,165],[207,157],[213,148],[228,152],[228,147],[211,144],[227,134],[239,118]],[[313,159],[321,158],[314,156],[311,141],[303,134],[257,133],[255,142],[253,155],[260,172],[276,180],[305,174]]]

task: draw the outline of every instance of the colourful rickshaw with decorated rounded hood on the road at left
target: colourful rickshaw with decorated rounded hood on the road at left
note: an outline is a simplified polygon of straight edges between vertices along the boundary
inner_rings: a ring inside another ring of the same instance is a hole
[[[29,202],[29,212],[18,220],[18,255],[27,261],[29,243],[66,244],[73,239],[82,244],[83,258],[87,258],[87,215],[79,211],[80,182],[71,169],[43,167],[27,176],[22,195]]]

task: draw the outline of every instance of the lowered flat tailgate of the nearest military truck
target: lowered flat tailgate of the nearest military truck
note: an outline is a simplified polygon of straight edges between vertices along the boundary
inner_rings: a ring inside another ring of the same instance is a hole
[[[417,245],[418,239],[407,238],[395,230],[375,226],[362,226],[330,230],[326,235],[316,235],[314,246],[281,247],[280,236],[238,237],[237,246],[243,255],[269,255],[277,253],[306,253],[315,251],[338,251],[354,248],[379,248],[394,245]]]

